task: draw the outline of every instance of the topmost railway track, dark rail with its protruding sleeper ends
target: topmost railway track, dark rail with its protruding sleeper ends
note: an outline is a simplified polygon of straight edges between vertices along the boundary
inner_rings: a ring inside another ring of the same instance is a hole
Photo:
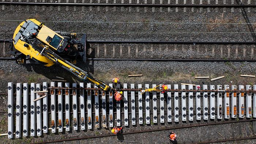
[[[4,10],[6,6],[11,6],[11,9],[13,9],[13,6],[18,6],[19,9],[21,9],[20,6],[27,6],[27,10],[29,10],[29,6],[34,6],[35,10],[37,10],[37,6],[42,6],[42,10],[45,10],[46,8],[50,7],[49,10],[53,10],[53,7],[58,7],[58,10],[60,11],[61,6],[65,6],[66,10],[69,10],[69,7],[74,7],[74,11],[76,11],[77,7],[82,7],[82,11],[85,10],[85,7],[90,7],[90,11],[93,10],[93,7],[97,7],[97,10],[100,11],[100,7],[106,7],[106,11],[109,11],[109,7],[113,7],[113,11],[116,11],[117,7],[121,7],[121,11],[125,11],[125,8],[129,8],[129,11],[132,11],[132,8],[136,8],[136,11],[139,12],[139,8],[143,7],[145,8],[144,11],[147,12],[146,8],[152,8],[152,12],[155,12],[155,8],[160,8],[160,11],[163,11],[163,8],[167,8],[167,11],[173,11],[172,8],[175,8],[175,11],[178,12],[178,8],[184,8],[184,12],[186,12],[186,8],[191,8],[191,11],[193,12],[195,8],[200,8],[200,12],[202,12],[203,8],[207,8],[207,11],[210,12],[210,8],[215,8],[216,11],[218,11],[218,8],[223,8],[223,11],[226,11],[226,8],[231,8],[231,12],[234,12],[234,8],[248,8],[248,12],[250,11],[250,8],[255,8],[255,4],[251,4],[251,0],[248,0],[246,4],[242,4],[238,0],[231,0],[228,3],[226,3],[226,0],[223,1],[223,3],[219,3],[218,0],[215,1],[215,3],[211,3],[210,0],[208,2],[200,1],[199,3],[195,3],[194,0],[192,0],[191,4],[188,4],[186,0],[183,2],[172,3],[169,1],[163,2],[163,0],[160,0],[160,3],[155,2],[154,0],[152,3],[147,3],[147,1],[132,1],[129,0],[129,3],[125,3],[124,0],[121,0],[121,3],[117,3],[116,0],[113,1],[113,3],[109,3],[108,0],[101,2],[100,0],[97,1],[97,3],[93,3],[92,0],[90,0],[90,3],[85,3],[83,0],[82,2],[77,2],[74,0],[70,3],[69,0],[66,1],[66,3],[61,3],[61,0],[58,0],[57,3],[54,3],[53,0],[50,0],[50,3],[45,2],[45,0],[42,0],[42,3],[38,3],[37,0],[34,1],[34,3],[30,3],[27,1],[26,3],[21,2],[19,0],[18,2],[0,2],[0,5],[2,5],[2,9]],[[112,10],[111,10],[112,11]]]

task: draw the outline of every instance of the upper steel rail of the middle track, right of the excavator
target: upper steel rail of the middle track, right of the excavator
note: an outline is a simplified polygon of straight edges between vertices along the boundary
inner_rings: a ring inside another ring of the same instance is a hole
[[[177,43],[185,43],[185,44],[256,44],[256,42],[207,42],[207,41],[86,41],[89,43],[163,43],[163,44],[177,44]]]

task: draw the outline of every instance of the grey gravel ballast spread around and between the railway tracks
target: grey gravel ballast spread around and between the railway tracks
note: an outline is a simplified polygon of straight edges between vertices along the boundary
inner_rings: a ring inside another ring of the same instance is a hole
[[[63,2],[63,1],[61,1]],[[71,1],[69,1],[71,2]],[[77,1],[79,2],[79,1]],[[81,2],[81,1],[80,1]],[[119,1],[120,2],[120,1]],[[125,1],[127,2],[127,1]],[[134,3],[135,1],[132,1]],[[171,0],[171,4],[175,4],[176,1]],[[183,1],[179,1],[182,3]],[[251,1],[252,3],[255,3]],[[89,0],[85,1],[89,3]],[[103,1],[101,1],[103,3]],[[113,3],[113,1],[109,1]],[[144,3],[144,1],[140,1]],[[148,1],[150,3],[150,1]],[[159,1],[155,1],[156,4]],[[163,1],[165,4],[166,1]],[[190,4],[191,1],[187,1],[187,4]],[[195,1],[195,4],[198,4],[199,1]],[[211,1],[211,4],[214,4],[215,1]],[[230,2],[229,2],[230,3]],[[227,3],[227,4],[229,4]],[[219,2],[222,4],[222,2]],[[52,8],[52,11],[51,11]],[[50,27],[56,31],[67,31],[67,32],[76,32],[76,33],[90,33],[87,34],[88,40],[109,40],[109,41],[253,41],[255,37],[253,35],[247,34],[230,34],[229,32],[246,32],[249,31],[248,26],[245,24],[210,24],[210,23],[244,23],[244,17],[238,8],[234,9],[234,12],[231,13],[231,9],[227,8],[226,12],[223,13],[223,9],[219,8],[218,12],[215,12],[214,8],[209,8],[210,12],[207,12],[206,9],[195,8],[194,12],[191,12],[191,8],[187,8],[187,12],[183,12],[184,8],[171,8],[168,12],[168,8],[155,8],[155,12],[152,12],[152,8],[129,8],[121,7],[116,8],[114,12],[113,7],[109,7],[109,11],[106,12],[105,7],[92,7],[90,11],[89,7],[84,7],[82,12],[82,7],[76,7],[74,11],[73,7],[45,7],[45,11],[42,11],[42,7],[19,7],[18,6],[5,6],[5,10],[1,10],[0,19],[9,19],[9,20],[24,20],[29,18],[35,18],[38,20],[56,20],[56,21],[84,21],[84,22],[44,22],[46,26]],[[99,10],[99,11],[98,11]],[[161,12],[162,11],[162,12]],[[255,23],[255,9],[251,9],[251,12],[247,12],[251,23]],[[97,21],[97,22],[144,22],[144,23],[91,23],[88,21]],[[152,22],[152,23],[148,23]],[[157,22],[167,22],[167,23],[157,23]],[[172,23],[170,23],[172,22]],[[176,23],[173,23],[176,22]],[[1,21],[2,29],[0,30],[1,39],[11,39],[13,31],[16,29],[20,21]],[[208,24],[181,24],[181,23],[208,23]],[[252,26],[255,29],[255,25]],[[174,32],[185,32],[182,34],[177,34]],[[195,32],[211,32],[208,33],[195,33]],[[218,34],[217,32],[223,32]],[[95,33],[95,34],[93,34]],[[120,34],[103,34],[103,33],[120,33]],[[121,34],[121,33],[132,33],[132,34]],[[142,33],[142,34],[139,34]],[[154,33],[154,34],[148,34]],[[159,33],[159,34],[158,34]],[[162,33],[162,34],[160,34]],[[78,35],[79,37],[82,34]],[[127,44],[122,45],[122,56],[128,57],[128,46]],[[136,45],[131,46],[131,57],[135,56]],[[207,47],[207,52],[205,48]],[[93,45],[95,48],[95,45]],[[97,46],[96,46],[97,48]],[[100,46],[99,56],[104,56],[104,46]],[[120,45],[115,45],[115,56],[120,57]],[[146,45],[146,52],[143,52],[144,46],[139,45],[138,57],[175,57],[182,56],[180,58],[189,58],[189,57],[221,57],[219,54],[219,46],[215,45],[215,55],[211,55],[212,49],[207,45],[200,46],[200,53],[197,53],[197,46],[192,46],[192,51],[187,49],[190,48],[190,45],[177,45],[177,51],[174,52],[173,45],[168,46],[166,50],[166,45],[154,45],[153,51],[151,51],[151,45]],[[161,48],[161,50],[160,50]],[[182,50],[182,48],[184,50]],[[239,46],[239,48],[245,48],[245,58],[251,58],[251,47],[250,46]],[[107,45],[107,56],[111,57],[113,55],[113,45]],[[232,50],[230,57],[234,56],[234,49],[236,46],[230,46]],[[166,52],[163,54],[163,51]],[[227,48],[223,46],[223,57],[226,58]],[[152,55],[154,53],[154,55]],[[97,51],[93,49],[91,57],[95,56]],[[243,51],[238,51],[238,57],[243,56]],[[255,56],[253,56],[255,57]],[[149,62],[149,61],[87,61],[86,63],[79,62],[78,67],[90,71],[96,78],[102,80],[103,82],[109,83],[114,76],[118,76],[121,79],[121,83],[134,83],[137,87],[138,84],[180,84],[180,83],[194,83],[194,84],[229,84],[229,85],[239,85],[239,84],[255,84],[256,80],[254,78],[240,77],[240,74],[255,75],[255,62]],[[142,77],[128,77],[128,74],[143,74]],[[224,75],[225,78],[210,82],[210,79],[196,80],[194,76],[210,76],[211,78]],[[18,65],[14,61],[3,61],[0,60],[0,92],[7,92],[6,86],[8,82],[14,83],[24,83],[24,82],[50,82],[51,79],[56,78],[56,76],[65,77],[68,82],[79,82],[76,77],[72,76],[69,72],[64,71],[58,65],[52,67],[44,67],[42,65]],[[0,106],[1,111],[6,111],[7,107],[7,97],[0,96],[2,105]],[[144,103],[144,102],[143,102]],[[130,106],[129,106],[130,107]],[[158,115],[159,116],[159,115]],[[137,115],[138,118],[138,115]],[[152,115],[151,115],[152,119]],[[101,118],[100,118],[101,120]],[[124,117],[122,116],[122,124],[124,124]],[[0,129],[1,132],[7,132],[6,115],[0,115],[0,122],[3,122],[3,128]],[[138,119],[137,119],[138,122]],[[203,123],[203,122],[202,122]],[[130,121],[131,124],[131,121]],[[180,123],[179,125],[189,125],[187,122],[185,124]],[[241,126],[234,124],[234,132],[237,133],[238,127],[241,127],[242,134],[247,133],[246,124],[241,124]],[[134,130],[144,130],[144,129],[153,129],[153,128],[164,128],[170,126],[169,124],[165,125],[136,125],[136,127],[129,126],[129,128],[124,128],[125,132],[131,132]],[[192,139],[192,134],[196,134],[196,137],[199,137],[198,140],[214,140],[216,139],[216,132],[220,132],[225,135],[225,138],[230,138],[229,133],[232,131],[232,126],[230,124],[220,125],[216,127],[199,127],[199,128],[190,128],[190,129],[179,129],[175,130],[178,134],[178,140],[180,143],[191,143],[196,142]],[[248,129],[248,128],[247,128]],[[2,137],[3,143],[30,143],[30,142],[39,142],[44,140],[57,140],[65,139],[70,137],[82,137],[82,136],[91,136],[99,134],[109,134],[110,129],[93,129],[83,131],[72,131],[72,133],[64,132],[57,134],[44,134],[42,137],[28,137],[22,139],[8,140],[6,137]],[[252,132],[250,127],[250,132]],[[168,143],[166,133],[169,131],[154,132],[154,133],[144,133],[144,134],[134,134],[131,136],[123,136],[124,140],[135,140],[139,143]],[[239,132],[238,132],[239,133]],[[241,134],[240,134],[241,135]],[[160,137],[163,136],[164,138]],[[194,136],[194,135],[193,135]],[[238,136],[234,134],[234,136]],[[122,138],[122,137],[121,137]],[[100,142],[100,143],[113,143],[113,137],[105,137],[102,139],[90,139],[85,141],[74,141],[74,143],[90,143],[90,142]],[[116,141],[114,141],[116,142]],[[254,141],[250,141],[253,143]],[[73,143],[73,142],[71,142]]]

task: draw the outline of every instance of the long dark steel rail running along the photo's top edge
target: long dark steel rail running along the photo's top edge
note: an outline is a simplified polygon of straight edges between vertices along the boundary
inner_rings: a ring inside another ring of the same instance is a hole
[[[217,8],[217,7],[232,7],[246,8],[256,7],[255,4],[91,4],[91,3],[22,3],[22,2],[0,2],[1,5],[44,5],[44,6],[106,6],[106,7],[199,7],[199,8]]]

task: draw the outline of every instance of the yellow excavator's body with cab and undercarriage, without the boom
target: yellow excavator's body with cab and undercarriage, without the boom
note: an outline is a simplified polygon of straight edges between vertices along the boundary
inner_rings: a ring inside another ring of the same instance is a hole
[[[34,47],[51,49],[67,61],[75,63],[77,59],[86,61],[86,34],[77,40],[75,33],[53,31],[35,19],[25,20],[16,28],[13,37],[13,47],[20,53],[13,53],[19,63],[34,60],[47,67],[52,61],[40,56]]]

